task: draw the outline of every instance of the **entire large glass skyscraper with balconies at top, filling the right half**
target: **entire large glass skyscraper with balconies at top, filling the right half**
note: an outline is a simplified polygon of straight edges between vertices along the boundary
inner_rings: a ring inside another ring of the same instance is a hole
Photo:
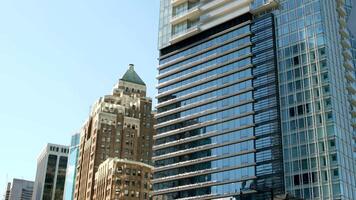
[[[351,7],[161,0],[154,199],[356,199]]]

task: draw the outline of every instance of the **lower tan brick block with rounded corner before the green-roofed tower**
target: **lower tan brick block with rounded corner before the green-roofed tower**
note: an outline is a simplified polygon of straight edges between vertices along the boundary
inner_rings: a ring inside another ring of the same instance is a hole
[[[96,200],[148,200],[153,167],[142,162],[108,158],[95,174]]]

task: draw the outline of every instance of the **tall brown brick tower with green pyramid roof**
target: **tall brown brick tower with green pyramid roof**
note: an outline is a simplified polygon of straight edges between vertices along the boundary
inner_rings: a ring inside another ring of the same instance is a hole
[[[81,130],[74,199],[93,199],[95,173],[108,158],[151,164],[151,107],[146,85],[130,65],[112,94],[95,103]]]

